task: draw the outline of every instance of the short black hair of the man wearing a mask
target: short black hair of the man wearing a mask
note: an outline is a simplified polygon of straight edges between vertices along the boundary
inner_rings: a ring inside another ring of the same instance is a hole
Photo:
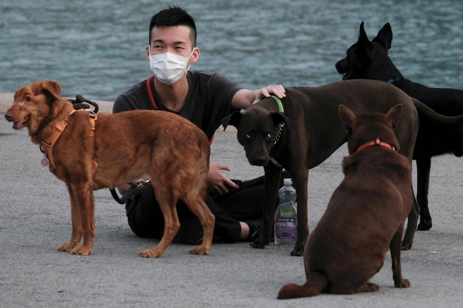
[[[154,27],[172,27],[179,25],[185,25],[191,29],[190,40],[193,47],[196,47],[196,25],[194,24],[193,17],[178,6],[169,6],[168,9],[162,10],[151,17],[149,45],[151,46],[151,30],[153,30]]]

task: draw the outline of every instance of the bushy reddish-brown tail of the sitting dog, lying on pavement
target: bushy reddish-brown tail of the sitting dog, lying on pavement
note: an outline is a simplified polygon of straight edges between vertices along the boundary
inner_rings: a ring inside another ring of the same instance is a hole
[[[307,282],[303,285],[289,283],[285,285],[278,293],[278,299],[290,299],[298,297],[310,297],[319,295],[326,288],[328,280],[318,272],[311,271],[307,277]]]

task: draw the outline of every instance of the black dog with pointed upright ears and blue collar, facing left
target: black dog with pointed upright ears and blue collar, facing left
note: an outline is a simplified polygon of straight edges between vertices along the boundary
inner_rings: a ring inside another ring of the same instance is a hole
[[[392,30],[389,23],[369,41],[363,22],[357,43],[347,49],[346,57],[336,63],[343,80],[372,79],[392,83],[411,97],[445,116],[463,113],[463,91],[457,89],[429,88],[405,79],[388,57]],[[463,126],[436,123],[419,114],[419,131],[413,159],[418,170],[417,201],[421,208],[418,230],[429,230],[432,219],[428,209],[429,172],[431,157],[442,154],[463,155]],[[407,248],[407,247],[404,247]]]

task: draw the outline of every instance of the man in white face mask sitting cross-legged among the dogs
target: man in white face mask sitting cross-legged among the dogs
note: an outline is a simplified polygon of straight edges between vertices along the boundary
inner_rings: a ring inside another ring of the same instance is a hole
[[[179,7],[169,7],[151,18],[149,43],[146,57],[154,76],[121,94],[114,102],[113,113],[136,109],[173,112],[196,124],[212,142],[222,118],[233,111],[247,109],[269,93],[280,99],[286,96],[281,85],[250,91],[217,73],[189,71],[198,61],[200,50],[196,47],[194,20]],[[220,170],[230,171],[230,167],[211,164],[208,174],[206,204],[215,216],[214,235],[229,242],[257,239],[259,223],[250,220],[262,218],[263,177],[238,186]],[[119,192],[124,193],[128,187],[118,187]],[[132,196],[125,209],[135,234],[162,237],[163,215],[151,185]],[[182,201],[177,203],[177,213],[180,229],[174,242],[200,241],[203,230],[198,218]]]

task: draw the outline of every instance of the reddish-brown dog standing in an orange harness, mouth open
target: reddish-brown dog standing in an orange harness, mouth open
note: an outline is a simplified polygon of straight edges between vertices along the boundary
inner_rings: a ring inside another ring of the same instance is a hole
[[[76,111],[59,94],[55,81],[35,81],[19,88],[5,117],[14,129],[27,127],[33,143],[42,144],[56,131],[65,129],[52,148],[50,171],[66,183],[71,201],[72,235],[59,251],[88,255],[96,235],[93,190],[114,188],[148,173],[163,211],[164,236],[158,246],[141,252],[161,257],[180,223],[176,203],[182,199],[199,217],[204,229],[201,246],[190,250],[208,254],[214,216],[204,203],[209,170],[209,142],[188,120],[164,111],[100,113],[94,137],[88,111]],[[96,164],[98,167],[95,170]],[[83,235],[83,243],[81,238]]]

